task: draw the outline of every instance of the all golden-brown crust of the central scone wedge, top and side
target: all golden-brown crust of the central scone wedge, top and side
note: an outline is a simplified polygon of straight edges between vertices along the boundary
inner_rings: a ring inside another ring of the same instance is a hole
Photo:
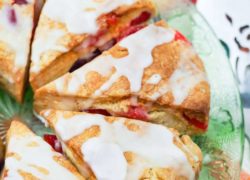
[[[158,22],[156,25],[167,27],[163,21]],[[149,121],[175,127],[182,133],[198,134],[206,131],[210,109],[210,86],[206,78],[203,78],[202,81],[192,87],[187,97],[179,105],[176,105],[174,102],[173,91],[175,89],[163,94],[163,96],[155,101],[152,101],[150,98],[162,86],[169,83],[170,77],[178,68],[182,53],[186,51],[192,52],[189,55],[190,57],[188,57],[188,63],[195,65],[205,76],[202,61],[193,52],[189,44],[183,41],[162,44],[153,49],[153,63],[144,70],[142,88],[138,93],[131,93],[130,82],[126,77],[122,76],[107,91],[104,91],[102,95],[95,98],[94,102],[88,108],[106,109],[112,115],[122,115],[122,113],[127,112],[128,108],[133,105],[130,99],[136,96],[138,97],[138,106],[144,107],[147,103],[151,103],[151,107],[148,108]],[[128,52],[126,48],[116,45],[105,52],[105,54],[110,54],[113,57],[124,57]],[[59,93],[57,91],[55,83],[48,84],[35,92],[35,109],[38,112],[46,108],[82,111],[86,107],[86,101],[88,101],[93,92],[98,90],[113,73],[115,73],[114,68],[108,76],[102,76],[95,71],[87,73],[85,84],[79,86],[79,90],[76,93],[67,91],[69,82],[74,76],[74,73],[68,73],[64,76],[65,79],[62,87],[64,90],[62,92]],[[147,80],[154,74],[159,74],[162,80],[157,85],[148,84]],[[65,102],[67,102],[67,105],[65,105]],[[190,123],[188,118],[191,119]],[[177,123],[170,122],[171,119],[176,119]],[[193,121],[192,119],[197,120],[196,124],[198,125],[194,125],[191,122]]]

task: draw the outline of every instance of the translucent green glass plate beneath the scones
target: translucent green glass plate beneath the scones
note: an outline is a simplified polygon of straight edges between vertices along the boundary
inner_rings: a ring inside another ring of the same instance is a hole
[[[244,145],[244,125],[239,92],[225,50],[193,6],[183,3],[169,6],[168,0],[155,2],[159,6],[159,16],[155,21],[165,19],[188,37],[204,60],[211,84],[208,132],[193,137],[204,156],[200,179],[238,180]],[[32,103],[31,88],[27,88],[22,105],[0,90],[0,137],[3,137],[6,129],[4,126],[8,124],[8,120],[15,116],[25,121],[38,135],[50,132],[33,115]]]

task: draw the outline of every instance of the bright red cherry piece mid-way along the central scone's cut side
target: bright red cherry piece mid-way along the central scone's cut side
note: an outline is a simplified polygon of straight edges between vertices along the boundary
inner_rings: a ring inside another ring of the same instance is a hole
[[[139,106],[129,107],[129,110],[125,114],[125,116],[127,118],[131,118],[131,119],[139,119],[139,120],[143,120],[143,121],[148,120],[147,111],[143,107],[139,107]]]

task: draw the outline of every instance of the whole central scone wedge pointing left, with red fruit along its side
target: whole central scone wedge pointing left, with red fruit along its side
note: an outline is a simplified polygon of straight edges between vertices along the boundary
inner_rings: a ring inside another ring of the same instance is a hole
[[[38,89],[35,109],[46,108],[106,110],[200,133],[208,126],[210,87],[191,44],[161,21]]]

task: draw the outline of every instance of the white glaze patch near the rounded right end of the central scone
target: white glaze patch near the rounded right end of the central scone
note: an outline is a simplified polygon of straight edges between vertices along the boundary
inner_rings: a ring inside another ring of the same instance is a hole
[[[168,83],[150,96],[153,101],[156,101],[167,92],[172,92],[174,104],[180,105],[188,97],[190,90],[200,82],[207,81],[206,74],[191,61],[194,56],[195,52],[191,48],[181,52],[178,67],[171,75]]]

